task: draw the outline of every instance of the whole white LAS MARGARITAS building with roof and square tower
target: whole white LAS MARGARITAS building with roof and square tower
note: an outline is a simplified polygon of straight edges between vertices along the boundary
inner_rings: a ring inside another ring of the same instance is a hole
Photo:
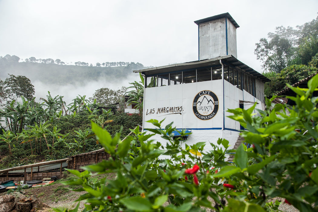
[[[188,145],[218,138],[234,146],[240,124],[231,120],[228,108],[265,109],[265,76],[237,58],[236,29],[229,13],[195,21],[199,28],[199,60],[138,70],[145,76],[143,128],[154,128],[150,119],[173,122],[191,130]],[[160,136],[154,138],[165,142]],[[211,147],[206,145],[207,148]]]

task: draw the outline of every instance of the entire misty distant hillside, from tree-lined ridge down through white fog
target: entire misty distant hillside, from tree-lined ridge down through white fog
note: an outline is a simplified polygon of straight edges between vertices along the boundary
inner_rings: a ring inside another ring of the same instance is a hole
[[[117,90],[122,86],[128,87],[130,82],[140,81],[139,74],[133,73],[133,70],[146,68],[134,62],[62,65],[64,62],[59,59],[30,59],[21,62],[15,55],[0,56],[0,79],[6,79],[8,74],[25,76],[34,85],[36,101],[45,98],[49,91],[52,96],[63,96],[66,104],[78,95],[86,95],[88,99],[100,88]]]

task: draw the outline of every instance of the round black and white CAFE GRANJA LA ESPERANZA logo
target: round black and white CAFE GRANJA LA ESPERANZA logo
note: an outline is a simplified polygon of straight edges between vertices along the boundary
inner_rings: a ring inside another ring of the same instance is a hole
[[[201,120],[212,119],[218,112],[218,97],[212,91],[201,91],[193,100],[193,113]]]

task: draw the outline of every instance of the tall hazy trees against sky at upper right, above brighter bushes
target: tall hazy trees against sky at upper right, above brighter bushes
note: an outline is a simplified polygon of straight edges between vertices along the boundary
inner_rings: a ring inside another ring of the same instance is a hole
[[[276,27],[275,33],[256,43],[254,53],[265,71],[280,73],[289,65],[308,65],[318,52],[318,17],[297,28]]]

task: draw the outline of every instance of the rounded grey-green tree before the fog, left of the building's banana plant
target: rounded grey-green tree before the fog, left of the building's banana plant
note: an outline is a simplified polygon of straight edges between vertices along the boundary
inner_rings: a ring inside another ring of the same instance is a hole
[[[115,105],[116,103],[123,104],[125,101],[124,94],[127,92],[126,87],[121,87],[118,90],[112,90],[109,88],[100,88],[95,91],[93,97],[89,99],[93,101],[96,99],[96,103],[100,106]]]

